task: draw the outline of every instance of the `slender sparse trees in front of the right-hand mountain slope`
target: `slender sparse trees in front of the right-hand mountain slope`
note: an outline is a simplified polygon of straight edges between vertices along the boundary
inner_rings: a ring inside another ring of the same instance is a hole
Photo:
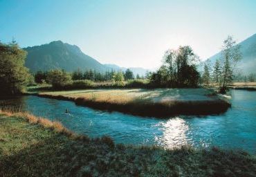
[[[230,84],[235,78],[235,68],[237,62],[241,59],[239,46],[235,45],[232,37],[223,41],[221,50],[221,58],[214,62],[214,66],[205,63],[203,66],[202,82],[209,85],[210,82],[219,86],[219,91],[224,93],[227,85]]]

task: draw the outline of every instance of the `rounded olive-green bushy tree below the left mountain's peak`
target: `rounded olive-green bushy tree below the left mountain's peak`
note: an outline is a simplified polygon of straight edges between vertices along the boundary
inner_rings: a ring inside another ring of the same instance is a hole
[[[48,73],[47,80],[53,85],[53,88],[61,88],[62,86],[72,82],[71,75],[63,70],[50,71]]]

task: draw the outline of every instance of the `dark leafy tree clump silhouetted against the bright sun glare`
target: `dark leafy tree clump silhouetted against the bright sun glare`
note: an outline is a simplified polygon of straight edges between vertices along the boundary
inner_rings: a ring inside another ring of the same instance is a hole
[[[177,50],[167,50],[163,65],[149,76],[158,86],[194,87],[198,85],[200,74],[196,71],[199,57],[190,46],[180,46]]]

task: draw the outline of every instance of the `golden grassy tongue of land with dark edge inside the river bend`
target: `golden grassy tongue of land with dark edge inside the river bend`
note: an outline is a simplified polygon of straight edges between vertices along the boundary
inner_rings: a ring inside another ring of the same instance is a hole
[[[217,114],[230,107],[214,91],[204,88],[44,91],[39,96],[71,100],[95,109],[160,118],[170,115]]]

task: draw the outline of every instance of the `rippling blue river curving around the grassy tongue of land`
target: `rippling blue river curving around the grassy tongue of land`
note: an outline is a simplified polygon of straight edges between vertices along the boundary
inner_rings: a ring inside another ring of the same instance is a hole
[[[179,116],[167,120],[97,111],[73,102],[23,96],[1,104],[20,105],[34,115],[58,120],[91,137],[109,135],[118,143],[162,147],[244,149],[256,153],[256,92],[230,91],[232,108],[223,115]],[[68,109],[70,113],[65,113]]]

